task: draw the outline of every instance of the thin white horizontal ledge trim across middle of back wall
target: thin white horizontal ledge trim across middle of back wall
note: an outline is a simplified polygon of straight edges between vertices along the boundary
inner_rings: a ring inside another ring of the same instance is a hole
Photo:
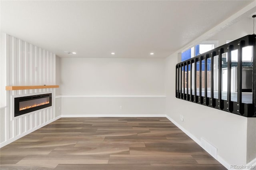
[[[60,97],[166,97],[166,95],[58,95]]]

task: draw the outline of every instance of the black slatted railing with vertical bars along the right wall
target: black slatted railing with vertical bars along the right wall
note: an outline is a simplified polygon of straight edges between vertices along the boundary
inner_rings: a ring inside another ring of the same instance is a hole
[[[252,47],[252,59],[243,61],[243,49],[248,46]],[[253,61],[256,61],[256,35],[244,36],[182,61],[176,65],[176,98],[256,117],[256,64]]]

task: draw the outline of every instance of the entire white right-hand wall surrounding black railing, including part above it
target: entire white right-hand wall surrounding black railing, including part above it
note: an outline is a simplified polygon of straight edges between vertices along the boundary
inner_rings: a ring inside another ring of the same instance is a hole
[[[208,40],[236,40],[252,34],[251,18],[234,23]],[[200,144],[204,138],[218,148],[218,160],[230,165],[246,165],[256,160],[256,120],[218,109],[202,106],[175,97],[175,66],[180,62],[178,53],[166,58],[166,115],[188,131]],[[184,107],[186,105],[186,107]],[[180,115],[184,121],[180,121]],[[254,162],[255,163],[255,162]]]

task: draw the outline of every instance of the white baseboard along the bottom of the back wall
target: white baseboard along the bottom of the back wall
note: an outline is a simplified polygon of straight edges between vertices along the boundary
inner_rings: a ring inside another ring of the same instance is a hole
[[[81,115],[61,115],[61,117],[166,117],[166,115],[158,114],[81,114]]]

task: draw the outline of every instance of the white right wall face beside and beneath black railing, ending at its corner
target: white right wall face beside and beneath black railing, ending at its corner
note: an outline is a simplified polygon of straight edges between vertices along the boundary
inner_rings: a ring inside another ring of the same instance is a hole
[[[166,115],[190,132],[197,141],[204,138],[218,148],[218,160],[223,159],[230,165],[246,165],[247,118],[176,99],[174,80],[177,55],[166,58],[166,87],[169,87],[166,89]],[[183,122],[180,115],[184,117]]]

